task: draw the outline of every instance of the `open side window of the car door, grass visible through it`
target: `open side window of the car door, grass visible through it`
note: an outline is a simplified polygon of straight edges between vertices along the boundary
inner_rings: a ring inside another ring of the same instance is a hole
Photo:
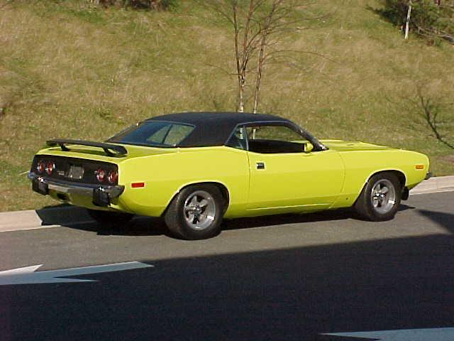
[[[302,153],[306,140],[288,126],[248,126],[248,146],[255,153]]]

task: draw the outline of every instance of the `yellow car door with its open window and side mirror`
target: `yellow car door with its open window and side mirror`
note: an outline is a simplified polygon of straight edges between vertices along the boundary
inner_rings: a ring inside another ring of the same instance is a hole
[[[344,166],[336,151],[304,151],[296,129],[279,124],[247,126],[248,210],[258,214],[330,207],[341,193]]]

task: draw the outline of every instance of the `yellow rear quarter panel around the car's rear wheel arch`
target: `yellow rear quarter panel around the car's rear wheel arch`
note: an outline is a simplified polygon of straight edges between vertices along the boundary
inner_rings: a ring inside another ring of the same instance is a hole
[[[120,205],[139,215],[160,216],[172,197],[194,183],[221,183],[229,193],[226,217],[236,216],[248,199],[249,170],[245,151],[226,146],[178,148],[177,153],[131,158],[119,164],[125,185]],[[132,188],[131,183],[145,183]]]

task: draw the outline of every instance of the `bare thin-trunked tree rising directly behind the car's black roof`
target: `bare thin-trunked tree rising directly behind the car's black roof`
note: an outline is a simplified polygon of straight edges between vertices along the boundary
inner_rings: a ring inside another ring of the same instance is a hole
[[[315,19],[306,16],[302,2],[304,1],[199,1],[199,4],[209,6],[220,13],[233,28],[235,75],[238,80],[238,112],[244,112],[249,98],[253,99],[252,112],[258,111],[265,66],[272,60],[282,62],[288,59],[295,51],[283,48],[284,36],[301,31],[302,21]],[[304,53],[304,51],[297,52]],[[251,87],[248,87],[249,82]]]

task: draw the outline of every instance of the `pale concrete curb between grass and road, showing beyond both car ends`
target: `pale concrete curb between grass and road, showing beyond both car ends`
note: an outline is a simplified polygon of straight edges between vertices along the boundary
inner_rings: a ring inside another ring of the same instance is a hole
[[[410,190],[410,195],[454,191],[454,175],[430,178]],[[42,229],[93,222],[82,207],[50,207],[41,210],[0,212],[0,232]],[[20,224],[20,227],[18,225]]]

